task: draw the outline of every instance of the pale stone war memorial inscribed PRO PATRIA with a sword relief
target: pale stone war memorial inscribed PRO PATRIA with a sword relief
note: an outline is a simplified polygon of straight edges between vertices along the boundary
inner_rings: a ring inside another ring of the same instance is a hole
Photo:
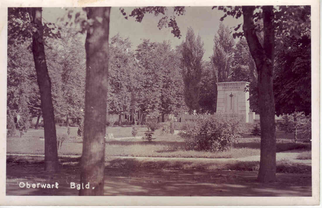
[[[249,82],[218,82],[216,112],[223,113],[227,119],[241,119],[253,123],[255,113],[249,110],[249,92],[245,87]]]

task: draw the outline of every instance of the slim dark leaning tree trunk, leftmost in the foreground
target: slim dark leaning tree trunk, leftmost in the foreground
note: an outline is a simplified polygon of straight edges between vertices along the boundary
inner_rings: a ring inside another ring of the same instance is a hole
[[[37,31],[33,33],[33,59],[37,73],[37,82],[40,91],[41,109],[43,112],[45,136],[45,170],[58,170],[58,154],[54,109],[52,107],[51,81],[48,74],[44,44],[42,8],[31,8],[31,22],[36,24]]]

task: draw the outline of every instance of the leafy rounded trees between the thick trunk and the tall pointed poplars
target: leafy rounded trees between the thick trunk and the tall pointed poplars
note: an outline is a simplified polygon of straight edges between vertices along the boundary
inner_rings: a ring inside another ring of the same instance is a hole
[[[135,51],[128,39],[116,35],[110,44],[108,112],[135,114],[144,120],[179,114],[184,106],[176,51],[168,41],[143,40]],[[119,120],[120,122],[120,120]]]

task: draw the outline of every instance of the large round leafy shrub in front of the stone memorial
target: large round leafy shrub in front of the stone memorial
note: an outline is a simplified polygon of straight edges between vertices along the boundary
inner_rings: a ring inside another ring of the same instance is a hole
[[[184,130],[179,132],[179,136],[190,149],[227,151],[241,138],[243,122],[234,119],[226,121],[222,115],[204,115],[186,123]]]

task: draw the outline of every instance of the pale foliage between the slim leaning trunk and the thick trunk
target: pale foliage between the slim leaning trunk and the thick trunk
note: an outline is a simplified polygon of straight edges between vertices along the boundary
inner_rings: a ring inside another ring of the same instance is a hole
[[[71,29],[61,30],[61,38],[48,45],[47,63],[52,78],[52,96],[58,118],[82,117],[85,99],[85,49],[81,37]]]

